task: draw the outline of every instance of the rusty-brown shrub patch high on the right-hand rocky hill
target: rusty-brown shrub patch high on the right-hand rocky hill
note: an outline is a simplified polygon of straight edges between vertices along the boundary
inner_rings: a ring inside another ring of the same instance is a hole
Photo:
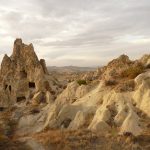
[[[144,66],[142,64],[137,64],[136,66],[131,66],[128,69],[124,70],[121,73],[121,77],[134,79],[139,74],[141,74],[143,71],[144,71]]]

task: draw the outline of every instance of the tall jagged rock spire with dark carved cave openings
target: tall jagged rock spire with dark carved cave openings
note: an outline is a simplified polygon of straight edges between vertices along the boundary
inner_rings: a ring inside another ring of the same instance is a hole
[[[33,45],[16,39],[12,55],[5,55],[2,60],[1,92],[13,103],[28,100],[37,91],[46,91],[47,74],[45,60],[38,60]]]

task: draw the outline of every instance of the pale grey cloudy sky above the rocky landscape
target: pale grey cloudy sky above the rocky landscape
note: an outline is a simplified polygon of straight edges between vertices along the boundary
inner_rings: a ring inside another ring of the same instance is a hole
[[[48,65],[135,59],[150,53],[150,0],[0,0],[0,61],[18,37]]]

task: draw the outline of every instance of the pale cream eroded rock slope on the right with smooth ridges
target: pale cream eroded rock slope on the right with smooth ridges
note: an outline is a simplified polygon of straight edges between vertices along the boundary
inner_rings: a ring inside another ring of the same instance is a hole
[[[135,64],[138,63],[130,61],[127,56],[123,55],[110,62],[104,69],[103,75],[108,78],[115,77],[109,73],[110,70],[116,69],[117,76],[119,76],[120,71]],[[141,116],[138,109],[149,115],[150,76],[149,71],[145,71],[145,73],[137,76],[135,81],[132,81],[135,84],[135,88],[132,90],[127,88],[125,91],[116,92],[111,85],[106,86],[105,79],[102,78],[98,86],[95,86],[93,90],[86,91],[86,94],[78,97],[73,103],[71,100],[81,87],[76,82],[70,83],[68,88],[58,97],[56,101],[58,109],[53,115],[50,115],[51,119],[47,125],[59,128],[66,119],[69,119],[68,129],[88,128],[96,132],[110,132],[112,128],[119,128],[118,134],[130,133],[135,136],[141,134],[146,128],[140,122]],[[119,78],[118,81],[121,81],[120,76]],[[129,80],[128,78],[125,79]],[[82,88],[79,91],[81,92]],[[68,101],[63,100],[64,97],[68,98]]]

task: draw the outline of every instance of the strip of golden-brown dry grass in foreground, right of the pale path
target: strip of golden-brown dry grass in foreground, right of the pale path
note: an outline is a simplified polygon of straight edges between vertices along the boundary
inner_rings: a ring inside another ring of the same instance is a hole
[[[109,136],[88,130],[51,130],[35,134],[33,138],[52,150],[132,150],[133,143],[132,139],[127,140],[129,137],[118,136],[116,128]]]

